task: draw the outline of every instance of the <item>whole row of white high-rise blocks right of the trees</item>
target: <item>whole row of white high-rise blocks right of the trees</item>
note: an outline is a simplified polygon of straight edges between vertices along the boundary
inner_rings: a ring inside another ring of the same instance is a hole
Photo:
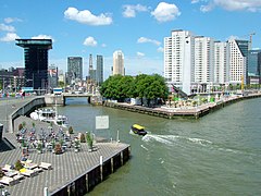
[[[197,89],[248,83],[248,40],[215,41],[188,30],[164,38],[164,77],[186,94]],[[201,86],[201,87],[199,87]]]

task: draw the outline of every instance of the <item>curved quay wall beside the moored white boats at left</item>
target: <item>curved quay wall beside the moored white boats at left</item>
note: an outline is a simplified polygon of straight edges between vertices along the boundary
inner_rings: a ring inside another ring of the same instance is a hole
[[[29,102],[25,103],[24,106],[17,108],[13,111],[8,120],[9,120],[9,132],[14,132],[14,120],[20,115],[26,115],[29,112],[34,111],[36,108],[41,108],[46,106],[45,97],[36,97],[35,99],[30,100]]]

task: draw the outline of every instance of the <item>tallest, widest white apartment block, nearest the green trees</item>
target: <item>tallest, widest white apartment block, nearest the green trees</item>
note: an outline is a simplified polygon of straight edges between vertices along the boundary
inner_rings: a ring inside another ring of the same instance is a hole
[[[194,75],[194,36],[188,30],[173,30],[164,38],[164,77],[169,86],[175,85],[190,94]]]

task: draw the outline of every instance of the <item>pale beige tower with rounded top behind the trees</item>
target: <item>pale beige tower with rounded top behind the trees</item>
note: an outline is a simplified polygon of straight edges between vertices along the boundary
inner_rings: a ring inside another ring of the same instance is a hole
[[[113,53],[113,70],[112,74],[116,75],[125,75],[125,70],[124,70],[124,54],[121,50],[116,50]]]

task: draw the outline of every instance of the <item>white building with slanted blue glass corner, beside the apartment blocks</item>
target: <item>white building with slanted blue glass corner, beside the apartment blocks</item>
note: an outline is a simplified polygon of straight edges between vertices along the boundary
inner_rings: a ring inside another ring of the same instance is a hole
[[[229,84],[247,82],[248,46],[247,40],[229,39]]]

